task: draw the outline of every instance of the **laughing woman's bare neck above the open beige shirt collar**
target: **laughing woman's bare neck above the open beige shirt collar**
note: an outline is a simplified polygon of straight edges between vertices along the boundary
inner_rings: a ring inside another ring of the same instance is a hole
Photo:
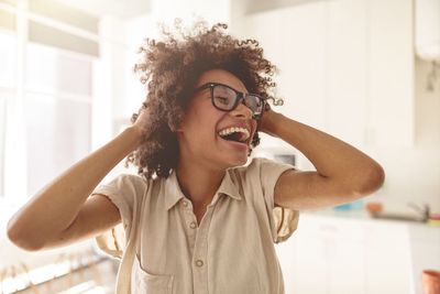
[[[188,160],[179,160],[176,167],[180,189],[193,204],[210,204],[224,174],[224,170],[212,170]]]

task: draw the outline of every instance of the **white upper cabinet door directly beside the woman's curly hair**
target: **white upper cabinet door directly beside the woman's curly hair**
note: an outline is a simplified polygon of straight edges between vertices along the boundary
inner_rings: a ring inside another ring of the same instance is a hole
[[[316,128],[324,127],[326,7],[320,2],[251,14],[244,20],[249,37],[255,37],[264,55],[278,68],[274,109]],[[283,144],[262,138],[262,146]],[[287,145],[288,146],[288,145]],[[290,146],[288,146],[290,149]]]

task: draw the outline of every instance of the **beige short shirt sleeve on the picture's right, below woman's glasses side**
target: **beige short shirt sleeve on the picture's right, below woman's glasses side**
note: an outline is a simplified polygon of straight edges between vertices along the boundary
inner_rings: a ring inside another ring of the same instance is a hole
[[[287,170],[297,170],[294,165],[278,163],[267,159],[255,159],[260,168],[263,196],[271,222],[272,237],[275,243],[287,240],[298,227],[299,211],[276,206],[274,202],[275,185]]]

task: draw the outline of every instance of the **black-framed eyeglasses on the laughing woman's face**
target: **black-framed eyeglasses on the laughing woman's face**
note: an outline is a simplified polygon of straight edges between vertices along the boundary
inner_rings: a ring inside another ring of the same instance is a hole
[[[231,111],[235,109],[239,102],[245,105],[252,111],[252,118],[261,119],[265,107],[265,99],[256,94],[245,94],[238,91],[228,85],[219,83],[208,83],[195,89],[195,92],[211,90],[211,101],[213,107],[222,111]]]

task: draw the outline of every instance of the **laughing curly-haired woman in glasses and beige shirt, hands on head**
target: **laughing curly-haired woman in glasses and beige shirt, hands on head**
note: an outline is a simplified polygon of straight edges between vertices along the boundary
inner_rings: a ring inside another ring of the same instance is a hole
[[[38,192],[11,218],[9,238],[41,250],[101,236],[100,247],[122,257],[118,293],[284,293],[274,243],[293,233],[298,211],[366,196],[384,171],[271,110],[275,66],[256,41],[228,35],[224,24],[177,29],[141,47],[135,70],[147,97],[132,126]],[[244,165],[258,131],[317,171],[264,159]],[[127,155],[139,175],[97,187]],[[103,236],[120,222],[127,244],[110,248]]]

